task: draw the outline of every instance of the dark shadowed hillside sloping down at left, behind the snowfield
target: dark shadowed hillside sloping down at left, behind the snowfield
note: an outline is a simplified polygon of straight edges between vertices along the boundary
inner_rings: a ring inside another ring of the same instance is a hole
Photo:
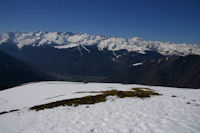
[[[27,82],[53,80],[53,77],[33,69],[2,51],[0,51],[0,75],[0,90]]]

